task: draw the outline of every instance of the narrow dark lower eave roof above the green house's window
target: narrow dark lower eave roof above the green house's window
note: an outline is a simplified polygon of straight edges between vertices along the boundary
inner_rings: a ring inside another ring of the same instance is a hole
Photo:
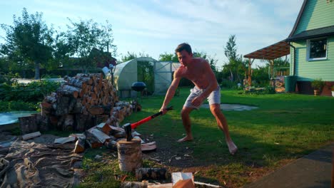
[[[323,36],[334,36],[334,26],[328,26],[323,28],[315,28],[308,31],[303,31],[293,36],[289,36],[285,39],[287,42],[300,41],[309,38],[319,38]]]

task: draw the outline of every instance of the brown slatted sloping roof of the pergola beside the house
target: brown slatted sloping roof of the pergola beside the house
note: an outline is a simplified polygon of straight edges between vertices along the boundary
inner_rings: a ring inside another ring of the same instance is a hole
[[[244,58],[268,59],[272,60],[290,54],[290,46],[285,41],[279,41],[260,50],[253,51],[243,56]]]

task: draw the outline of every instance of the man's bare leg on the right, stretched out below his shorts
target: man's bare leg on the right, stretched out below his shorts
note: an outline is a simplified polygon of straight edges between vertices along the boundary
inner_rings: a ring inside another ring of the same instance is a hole
[[[224,132],[226,144],[228,145],[228,150],[230,151],[231,155],[234,155],[238,150],[238,147],[234,144],[233,140],[231,139],[230,132],[228,131],[228,123],[226,121],[225,116],[221,112],[221,105],[220,104],[212,104],[210,105],[211,113],[214,117],[216,117],[216,121],[218,127]]]

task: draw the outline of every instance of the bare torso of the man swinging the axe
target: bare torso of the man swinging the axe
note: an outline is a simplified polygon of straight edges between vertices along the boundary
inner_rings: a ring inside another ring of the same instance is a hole
[[[205,89],[209,85],[209,79],[207,78],[208,70],[205,63],[206,61],[203,58],[193,58],[191,64],[178,68],[178,75],[191,80],[197,88]]]

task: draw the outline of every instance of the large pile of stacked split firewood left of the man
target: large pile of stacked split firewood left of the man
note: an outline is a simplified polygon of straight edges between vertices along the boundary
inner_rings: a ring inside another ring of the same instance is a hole
[[[101,122],[119,126],[133,112],[133,105],[118,101],[116,88],[101,73],[79,73],[64,80],[56,93],[41,103],[50,128],[83,132]]]

